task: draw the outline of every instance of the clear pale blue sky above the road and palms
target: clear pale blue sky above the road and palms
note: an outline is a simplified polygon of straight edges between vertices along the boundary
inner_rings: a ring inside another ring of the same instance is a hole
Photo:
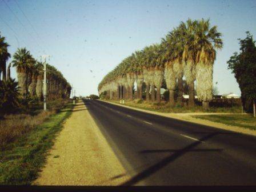
[[[98,83],[122,59],[161,42],[187,18],[210,18],[211,26],[218,26],[223,49],[214,63],[214,86],[219,94],[241,95],[226,62],[239,51],[237,39],[245,38],[245,31],[256,35],[256,1],[0,0],[0,31],[11,55],[18,47],[35,59],[50,55],[50,65],[77,96],[98,94]],[[15,69],[11,77],[17,77]]]

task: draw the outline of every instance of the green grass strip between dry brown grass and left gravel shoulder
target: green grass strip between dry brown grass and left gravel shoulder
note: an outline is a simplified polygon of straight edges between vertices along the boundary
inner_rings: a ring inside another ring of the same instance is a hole
[[[37,177],[55,135],[62,129],[62,122],[69,117],[72,108],[71,103],[67,104],[41,125],[5,146],[0,154],[1,185],[30,185]]]

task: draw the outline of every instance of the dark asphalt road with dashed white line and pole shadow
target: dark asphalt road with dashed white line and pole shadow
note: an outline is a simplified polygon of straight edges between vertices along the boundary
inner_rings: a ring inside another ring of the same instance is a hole
[[[132,175],[123,185],[256,185],[256,137],[102,101],[85,104]]]

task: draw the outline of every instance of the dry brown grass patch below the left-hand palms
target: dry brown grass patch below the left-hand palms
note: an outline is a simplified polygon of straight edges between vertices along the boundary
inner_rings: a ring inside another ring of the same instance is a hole
[[[54,114],[56,110],[41,111],[37,115],[14,114],[5,115],[0,121],[0,148],[2,149],[6,143],[14,141],[15,138],[31,131],[37,125],[45,121],[47,117]]]

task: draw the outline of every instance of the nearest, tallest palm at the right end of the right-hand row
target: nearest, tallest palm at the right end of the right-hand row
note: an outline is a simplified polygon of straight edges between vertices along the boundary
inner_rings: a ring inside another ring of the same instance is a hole
[[[197,96],[203,102],[203,108],[209,108],[209,101],[213,98],[213,63],[216,58],[216,50],[221,49],[223,42],[217,26],[210,28],[209,19],[201,19],[195,29],[194,46],[195,77],[197,79]]]

